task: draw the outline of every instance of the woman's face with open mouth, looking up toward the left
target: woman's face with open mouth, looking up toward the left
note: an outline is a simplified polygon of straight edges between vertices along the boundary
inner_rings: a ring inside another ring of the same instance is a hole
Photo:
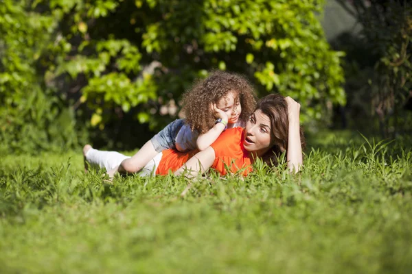
[[[271,147],[271,120],[260,110],[255,110],[244,130],[243,147],[247,151],[262,156]]]

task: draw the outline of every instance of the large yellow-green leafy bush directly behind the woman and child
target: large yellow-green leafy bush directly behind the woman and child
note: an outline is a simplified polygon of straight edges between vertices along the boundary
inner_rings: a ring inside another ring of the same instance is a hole
[[[275,91],[301,101],[308,106],[304,121],[321,119],[328,101],[345,103],[342,53],[325,41],[315,15],[322,10],[319,1],[53,0],[44,5],[60,25],[59,43],[65,44],[60,48],[71,49],[60,52],[50,75],[67,73],[69,82],[82,86],[81,101],[93,110],[91,124],[100,128],[117,120],[115,111],[102,110],[117,108],[137,109],[154,127],[161,121],[159,106],[179,102],[193,79],[212,68],[246,73],[261,96]]]

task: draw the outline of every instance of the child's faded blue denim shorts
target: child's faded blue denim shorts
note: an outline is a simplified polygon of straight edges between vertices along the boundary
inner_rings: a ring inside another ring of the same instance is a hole
[[[161,153],[165,149],[176,149],[176,136],[184,124],[183,119],[176,119],[153,136],[150,140],[155,150]]]

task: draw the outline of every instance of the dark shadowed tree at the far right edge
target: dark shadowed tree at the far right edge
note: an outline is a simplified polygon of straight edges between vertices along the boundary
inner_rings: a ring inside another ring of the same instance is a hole
[[[396,132],[404,127],[400,111],[409,100],[412,83],[412,6],[407,1],[339,0],[353,5],[355,16],[363,25],[363,41],[376,55],[374,74],[369,79],[372,111],[378,115],[382,136],[389,137],[389,118]]]

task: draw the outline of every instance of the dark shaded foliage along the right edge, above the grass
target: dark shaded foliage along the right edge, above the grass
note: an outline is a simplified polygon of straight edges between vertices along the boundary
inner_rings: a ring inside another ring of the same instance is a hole
[[[336,42],[337,48],[352,55],[345,60],[345,74],[354,116],[365,117],[367,125],[372,114],[378,116],[380,132],[386,138],[409,132],[412,116],[403,108],[412,97],[411,5],[407,1],[338,2],[362,27],[358,37],[346,34]],[[364,109],[362,114],[356,113],[359,108]]]

